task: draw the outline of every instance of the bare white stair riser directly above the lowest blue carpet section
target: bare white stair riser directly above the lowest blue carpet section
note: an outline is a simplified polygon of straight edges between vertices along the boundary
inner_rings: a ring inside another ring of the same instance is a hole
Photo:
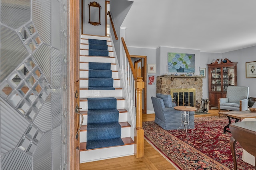
[[[80,90],[80,98],[122,98],[122,89],[118,90]]]

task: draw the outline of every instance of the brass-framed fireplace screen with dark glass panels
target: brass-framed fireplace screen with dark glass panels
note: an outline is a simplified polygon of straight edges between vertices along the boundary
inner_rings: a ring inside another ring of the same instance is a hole
[[[195,88],[176,88],[170,90],[172,95],[172,102],[176,106],[195,106]]]

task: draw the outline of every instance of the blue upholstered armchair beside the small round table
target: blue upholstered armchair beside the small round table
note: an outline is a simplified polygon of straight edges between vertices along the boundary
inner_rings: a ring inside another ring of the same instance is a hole
[[[181,125],[181,111],[173,108],[176,105],[172,103],[172,96],[158,93],[151,100],[156,115],[155,122],[165,130],[178,129]],[[189,126],[192,129],[195,128],[194,114],[194,111],[189,112]]]

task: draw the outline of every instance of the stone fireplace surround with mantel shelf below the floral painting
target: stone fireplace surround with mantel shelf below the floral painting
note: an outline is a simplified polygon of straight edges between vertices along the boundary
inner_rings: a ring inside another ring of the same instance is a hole
[[[157,76],[156,78],[156,93],[161,93],[161,94],[171,94],[172,91],[172,98],[174,98],[173,96],[173,91],[174,92],[178,92],[178,94],[183,94],[184,92],[186,94],[186,90],[188,89],[195,89],[195,94],[193,98],[193,101],[190,102],[190,106],[193,103],[193,106],[195,106],[196,100],[198,100],[198,102],[201,102],[202,100],[202,88],[203,88],[203,80],[202,77],[200,76],[174,76],[174,75],[170,75],[170,76]],[[180,89],[180,92],[179,92]],[[190,91],[188,90],[188,94],[192,94]],[[192,100],[192,99],[191,99]],[[186,102],[184,101],[183,104],[185,104]]]

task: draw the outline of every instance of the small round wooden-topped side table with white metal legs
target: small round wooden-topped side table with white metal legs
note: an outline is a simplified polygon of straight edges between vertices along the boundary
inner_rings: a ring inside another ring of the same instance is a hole
[[[178,129],[180,129],[182,127],[182,124],[184,123],[184,129],[186,127],[186,135],[188,137],[187,124],[188,124],[188,127],[190,129],[192,129],[189,126],[189,111],[196,111],[196,107],[191,107],[191,106],[175,106],[174,109],[182,111],[181,112],[181,125],[180,125],[180,127],[178,127]],[[183,116],[184,116],[184,119],[182,119]],[[187,116],[188,116],[188,119],[187,119]],[[177,129],[177,131],[178,131],[178,129]]]

